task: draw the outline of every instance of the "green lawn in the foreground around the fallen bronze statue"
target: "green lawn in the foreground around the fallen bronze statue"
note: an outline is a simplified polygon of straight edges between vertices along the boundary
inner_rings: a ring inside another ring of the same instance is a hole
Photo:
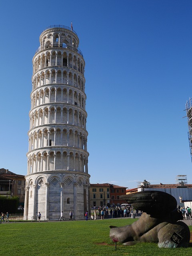
[[[192,247],[165,249],[154,243],[115,244],[109,226],[124,226],[135,219],[0,224],[0,256],[189,256]],[[190,226],[192,231],[192,227]]]

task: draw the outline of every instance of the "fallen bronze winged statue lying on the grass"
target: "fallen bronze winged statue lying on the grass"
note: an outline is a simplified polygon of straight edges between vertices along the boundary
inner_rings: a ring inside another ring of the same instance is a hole
[[[162,191],[142,191],[121,196],[142,216],[131,225],[110,226],[110,238],[123,245],[158,242],[160,248],[188,247],[190,230],[182,220],[176,199]]]

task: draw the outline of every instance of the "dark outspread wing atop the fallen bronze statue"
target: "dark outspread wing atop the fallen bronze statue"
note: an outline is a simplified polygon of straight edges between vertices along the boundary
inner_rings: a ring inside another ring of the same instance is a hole
[[[165,192],[146,190],[120,196],[131,204],[134,209],[154,215],[164,215],[172,212],[177,207],[176,199]]]

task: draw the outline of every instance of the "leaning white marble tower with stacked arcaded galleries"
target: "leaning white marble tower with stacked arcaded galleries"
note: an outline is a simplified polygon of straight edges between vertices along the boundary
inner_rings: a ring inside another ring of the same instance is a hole
[[[57,218],[89,210],[85,61],[72,28],[40,35],[32,64],[24,217]]]

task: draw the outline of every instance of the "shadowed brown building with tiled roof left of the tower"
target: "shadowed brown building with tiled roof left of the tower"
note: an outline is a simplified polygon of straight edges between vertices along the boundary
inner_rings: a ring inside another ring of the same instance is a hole
[[[0,169],[0,195],[18,196],[20,205],[25,201],[25,176],[10,172],[8,169]]]

